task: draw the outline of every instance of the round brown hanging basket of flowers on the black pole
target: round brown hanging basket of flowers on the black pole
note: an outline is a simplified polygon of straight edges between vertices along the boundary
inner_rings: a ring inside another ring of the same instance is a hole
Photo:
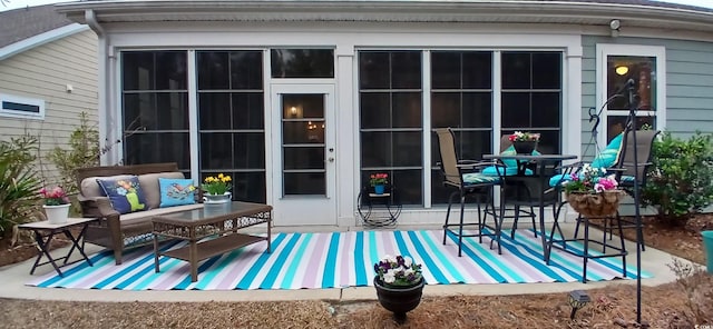
[[[585,217],[606,217],[616,213],[623,197],[616,179],[606,176],[604,168],[584,164],[563,182],[567,202]]]

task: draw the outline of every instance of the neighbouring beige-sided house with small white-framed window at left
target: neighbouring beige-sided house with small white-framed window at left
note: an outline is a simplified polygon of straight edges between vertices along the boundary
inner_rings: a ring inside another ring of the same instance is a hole
[[[0,12],[0,139],[38,137],[38,169],[58,183],[45,157],[65,148],[79,114],[97,119],[97,36],[52,6]]]

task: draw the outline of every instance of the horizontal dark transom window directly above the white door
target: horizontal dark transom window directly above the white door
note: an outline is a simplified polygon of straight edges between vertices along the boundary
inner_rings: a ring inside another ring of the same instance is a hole
[[[334,78],[332,49],[272,49],[273,78]]]

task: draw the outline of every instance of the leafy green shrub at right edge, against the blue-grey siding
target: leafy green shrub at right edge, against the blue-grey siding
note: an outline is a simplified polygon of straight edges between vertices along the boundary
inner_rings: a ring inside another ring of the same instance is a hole
[[[642,201],[658,216],[687,220],[713,202],[713,134],[696,132],[688,140],[670,132],[653,146],[653,170],[643,189]]]

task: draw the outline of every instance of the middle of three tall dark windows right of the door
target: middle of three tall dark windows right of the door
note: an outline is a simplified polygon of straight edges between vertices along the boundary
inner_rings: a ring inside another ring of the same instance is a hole
[[[453,128],[458,156],[480,159],[492,146],[492,52],[431,52],[431,128]],[[448,202],[439,161],[438,139],[431,133],[432,203]]]

